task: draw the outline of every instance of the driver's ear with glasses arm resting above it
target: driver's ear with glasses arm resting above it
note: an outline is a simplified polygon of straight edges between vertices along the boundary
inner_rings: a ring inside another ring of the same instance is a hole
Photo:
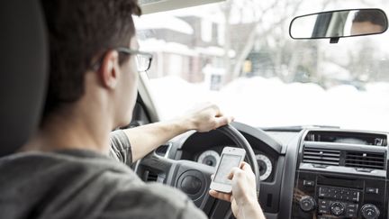
[[[104,87],[111,89],[116,87],[120,75],[119,53],[116,50],[105,53],[98,75]]]

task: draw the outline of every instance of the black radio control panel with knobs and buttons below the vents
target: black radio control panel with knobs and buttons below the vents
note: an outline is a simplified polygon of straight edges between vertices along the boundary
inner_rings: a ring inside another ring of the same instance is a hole
[[[294,187],[292,218],[387,218],[386,183],[384,178],[299,171]]]

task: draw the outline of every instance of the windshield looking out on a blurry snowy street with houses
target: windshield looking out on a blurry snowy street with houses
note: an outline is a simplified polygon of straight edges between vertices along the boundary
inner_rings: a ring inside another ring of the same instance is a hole
[[[387,132],[389,37],[289,37],[294,16],[383,1],[231,0],[135,18],[162,119],[204,101],[256,127],[330,125]]]

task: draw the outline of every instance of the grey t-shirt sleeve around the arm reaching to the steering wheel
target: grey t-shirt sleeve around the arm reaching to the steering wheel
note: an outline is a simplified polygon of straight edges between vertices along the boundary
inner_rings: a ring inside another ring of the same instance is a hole
[[[110,157],[125,164],[132,163],[131,143],[125,132],[117,130],[110,135]]]

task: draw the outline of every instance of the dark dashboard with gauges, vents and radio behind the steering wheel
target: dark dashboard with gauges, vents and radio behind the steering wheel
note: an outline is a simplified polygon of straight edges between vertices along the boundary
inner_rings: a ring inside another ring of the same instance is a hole
[[[256,154],[258,200],[268,219],[388,218],[387,133],[232,125]],[[226,146],[235,144],[221,132],[187,132],[163,154],[215,167]]]

